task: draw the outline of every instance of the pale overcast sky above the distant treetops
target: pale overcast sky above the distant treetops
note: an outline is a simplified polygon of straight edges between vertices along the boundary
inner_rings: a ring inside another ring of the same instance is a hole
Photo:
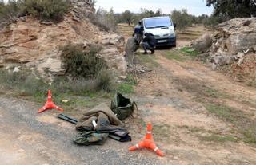
[[[97,9],[102,7],[106,10],[113,7],[116,13],[122,13],[125,10],[138,13],[142,7],[154,11],[160,8],[165,14],[170,14],[171,10],[181,10],[182,8],[194,15],[210,15],[213,12],[212,7],[206,6],[205,0],[97,0],[96,6]]]

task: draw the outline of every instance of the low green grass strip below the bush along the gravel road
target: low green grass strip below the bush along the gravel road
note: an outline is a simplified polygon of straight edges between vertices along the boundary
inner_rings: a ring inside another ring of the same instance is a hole
[[[58,77],[51,84],[42,81],[42,78],[30,73],[30,71],[21,71],[12,73],[6,70],[0,70],[1,90],[8,90],[13,96],[22,96],[24,99],[33,100],[40,104],[46,102],[48,89],[51,89],[54,102],[62,108],[91,108],[93,103],[99,103],[101,100],[109,99],[107,92],[102,91],[98,80],[70,79]],[[104,97],[104,98],[103,98]],[[68,100],[63,103],[62,100]],[[87,101],[88,100],[88,101]],[[90,100],[92,100],[90,102]],[[97,101],[95,101],[97,100]]]

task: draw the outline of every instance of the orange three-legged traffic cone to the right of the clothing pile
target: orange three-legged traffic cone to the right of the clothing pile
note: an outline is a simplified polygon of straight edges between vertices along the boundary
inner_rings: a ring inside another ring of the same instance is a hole
[[[152,136],[152,124],[147,124],[147,132],[145,138],[142,140],[142,142],[136,144],[133,147],[129,148],[129,151],[135,151],[140,148],[146,148],[150,149],[152,151],[155,151],[159,156],[163,156],[164,154],[162,151],[159,150],[159,148],[155,145],[154,139]]]

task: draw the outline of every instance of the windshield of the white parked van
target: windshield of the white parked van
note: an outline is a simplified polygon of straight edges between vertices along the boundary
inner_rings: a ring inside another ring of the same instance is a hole
[[[145,27],[147,29],[149,28],[158,28],[158,27],[166,27],[166,26],[172,26],[172,22],[170,21],[170,18],[149,18],[145,19]]]

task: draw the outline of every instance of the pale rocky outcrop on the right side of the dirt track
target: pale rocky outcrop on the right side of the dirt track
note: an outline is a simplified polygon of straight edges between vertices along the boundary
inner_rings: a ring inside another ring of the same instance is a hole
[[[212,45],[204,52],[213,68],[231,65],[230,73],[256,80],[256,18],[235,18],[219,24]]]

